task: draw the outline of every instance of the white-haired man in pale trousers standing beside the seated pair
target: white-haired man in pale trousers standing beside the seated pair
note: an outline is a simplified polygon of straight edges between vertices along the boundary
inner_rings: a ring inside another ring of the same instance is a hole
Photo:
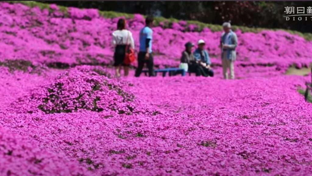
[[[224,32],[221,35],[221,59],[224,79],[228,79],[227,70],[230,69],[230,79],[234,79],[234,61],[236,60],[237,35],[231,30],[231,23],[223,23]]]

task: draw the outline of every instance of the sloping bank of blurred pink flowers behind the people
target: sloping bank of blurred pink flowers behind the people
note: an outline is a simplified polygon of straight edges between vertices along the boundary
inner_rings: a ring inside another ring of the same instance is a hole
[[[110,65],[113,62],[111,33],[116,29],[119,18],[99,17],[96,9],[69,8],[67,17],[55,5],[51,5],[49,12],[47,9],[28,8],[21,4],[1,3],[0,18],[2,60],[23,58],[50,67],[56,63],[71,66]],[[143,16],[135,14],[134,18],[127,19],[127,24],[133,33],[136,47],[139,47]],[[185,21],[173,23],[171,28],[160,26],[153,28],[155,66],[178,66],[184,44],[188,41],[196,44],[198,39],[204,39],[214,68],[220,68],[218,45],[221,31],[212,32],[204,28],[201,32],[192,32],[197,30],[197,26],[187,25]],[[188,30],[191,32],[183,32]],[[310,63],[312,42],[297,35],[269,30],[256,34],[236,31],[236,34],[237,67],[262,69],[270,65],[273,70],[283,73],[289,65],[296,64],[300,68]]]

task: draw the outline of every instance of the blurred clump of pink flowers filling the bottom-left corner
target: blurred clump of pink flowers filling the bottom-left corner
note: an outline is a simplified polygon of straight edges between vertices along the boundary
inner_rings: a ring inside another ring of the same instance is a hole
[[[66,155],[41,149],[33,140],[3,127],[0,127],[0,156],[1,175],[81,175],[86,171],[77,162],[66,159]]]

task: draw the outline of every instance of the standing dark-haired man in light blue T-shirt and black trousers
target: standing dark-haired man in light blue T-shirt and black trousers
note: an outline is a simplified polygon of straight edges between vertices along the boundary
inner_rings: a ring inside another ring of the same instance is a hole
[[[154,76],[154,60],[152,55],[152,39],[154,18],[148,16],[145,19],[145,27],[140,30],[140,49],[138,54],[138,68],[135,70],[135,77],[139,77],[142,73],[144,64],[149,69],[149,76]]]

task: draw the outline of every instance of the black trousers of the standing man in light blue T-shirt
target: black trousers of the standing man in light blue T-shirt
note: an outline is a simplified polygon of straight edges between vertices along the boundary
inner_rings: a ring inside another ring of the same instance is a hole
[[[145,59],[146,52],[139,52],[138,54],[138,68],[135,70],[135,77],[139,77],[142,73],[144,64],[149,69],[149,76],[154,76],[154,59],[152,53],[149,54],[149,59]]]

